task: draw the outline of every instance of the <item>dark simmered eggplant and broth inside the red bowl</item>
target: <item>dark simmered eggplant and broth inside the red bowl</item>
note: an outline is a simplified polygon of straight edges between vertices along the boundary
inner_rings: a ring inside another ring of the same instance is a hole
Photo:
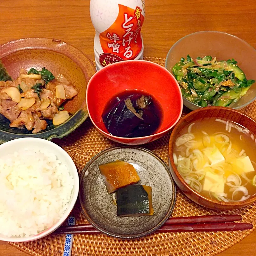
[[[114,136],[144,137],[157,131],[162,109],[152,95],[140,90],[127,90],[109,101],[102,119],[108,132]]]

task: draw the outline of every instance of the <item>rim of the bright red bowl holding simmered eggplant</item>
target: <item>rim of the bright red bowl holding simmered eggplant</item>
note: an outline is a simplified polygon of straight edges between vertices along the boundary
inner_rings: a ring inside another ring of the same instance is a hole
[[[91,79],[89,80],[89,82],[88,82],[88,84],[87,84],[87,88],[86,88],[86,106],[87,106],[88,115],[89,115],[89,117],[90,117],[90,119],[91,119],[93,125],[94,125],[101,133],[103,133],[106,137],[111,137],[111,138],[113,138],[113,139],[115,139],[115,140],[118,140],[118,141],[119,141],[119,140],[122,140],[123,142],[126,142],[126,141],[128,142],[128,141],[130,141],[131,139],[132,139],[132,140],[138,140],[138,139],[154,138],[154,137],[157,137],[157,136],[159,136],[159,135],[161,136],[162,134],[166,133],[167,131],[170,131],[170,129],[171,129],[174,125],[176,125],[176,124],[178,123],[178,121],[179,121],[180,118],[181,118],[182,110],[183,110],[183,97],[182,97],[181,89],[180,89],[180,86],[179,86],[179,84],[178,84],[178,82],[177,82],[177,80],[175,79],[175,77],[174,77],[173,74],[171,74],[166,68],[162,67],[161,65],[159,65],[159,64],[157,64],[157,63],[154,63],[154,62],[151,62],[151,61],[144,61],[144,60],[131,60],[131,61],[132,61],[133,63],[142,63],[142,64],[143,64],[144,62],[147,62],[147,63],[149,63],[149,64],[152,65],[152,66],[155,66],[155,67],[157,67],[157,68],[163,69],[163,71],[166,72],[166,74],[170,75],[170,76],[172,77],[172,79],[175,81],[176,86],[178,87],[179,96],[180,96],[180,99],[181,99],[181,108],[180,108],[180,113],[179,113],[179,115],[178,115],[176,121],[175,121],[169,128],[165,129],[164,131],[157,132],[157,133],[154,133],[154,134],[151,134],[151,135],[148,135],[148,136],[144,136],[144,137],[134,137],[134,138],[118,137],[118,136],[114,136],[114,135],[112,135],[112,134],[110,134],[110,133],[107,133],[107,132],[101,130],[101,129],[98,127],[98,125],[95,124],[95,122],[93,121],[93,119],[92,119],[92,117],[91,117],[91,114],[90,114],[90,111],[89,111],[89,106],[88,106],[88,88],[89,88],[89,86],[91,85],[92,80],[93,80],[93,78],[94,78],[95,76],[97,76],[98,74],[100,74],[100,73],[102,73],[102,72],[105,72],[105,70],[107,70],[108,68],[112,68],[113,66],[118,66],[118,65],[122,66],[122,65],[126,65],[126,64],[125,64],[126,61],[115,62],[115,63],[113,63],[113,64],[111,64],[111,65],[109,65],[109,66],[106,66],[106,67],[104,67],[104,68],[101,68],[99,71],[97,71],[97,72],[91,77]]]

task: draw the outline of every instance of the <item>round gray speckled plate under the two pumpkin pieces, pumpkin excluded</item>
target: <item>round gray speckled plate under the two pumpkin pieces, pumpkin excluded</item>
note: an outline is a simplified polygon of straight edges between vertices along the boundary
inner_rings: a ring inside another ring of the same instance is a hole
[[[140,181],[152,187],[154,214],[140,217],[117,217],[113,202],[99,172],[99,165],[116,160],[131,163]],[[150,150],[138,147],[116,147],[93,157],[80,176],[80,203],[86,219],[101,232],[118,238],[138,238],[154,232],[169,218],[176,189],[167,165]]]

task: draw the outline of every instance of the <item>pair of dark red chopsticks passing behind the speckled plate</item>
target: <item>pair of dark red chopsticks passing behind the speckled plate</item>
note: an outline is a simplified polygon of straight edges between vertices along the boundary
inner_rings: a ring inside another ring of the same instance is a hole
[[[178,217],[168,219],[156,232],[216,232],[237,231],[253,228],[252,224],[239,223],[241,215],[220,214]],[[57,234],[99,234],[99,230],[90,224],[59,227]]]

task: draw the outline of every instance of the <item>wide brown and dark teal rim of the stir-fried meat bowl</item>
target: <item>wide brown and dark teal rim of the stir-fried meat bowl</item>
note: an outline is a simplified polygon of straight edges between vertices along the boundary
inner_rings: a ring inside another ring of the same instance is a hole
[[[0,45],[0,60],[3,57],[8,56],[14,52],[18,52],[26,49],[44,49],[49,52],[57,52],[65,55],[71,61],[73,61],[78,67],[80,67],[86,85],[89,82],[91,76],[96,72],[95,67],[91,60],[78,48],[63,42],[58,39],[52,38],[22,38],[14,41],[6,42]],[[89,70],[88,70],[88,66]],[[76,128],[78,128],[88,117],[88,112],[86,108],[86,99],[84,97],[84,102],[80,109],[78,109],[66,122],[56,127],[50,128],[49,130],[42,131],[36,134],[26,133],[13,133],[11,131],[4,131],[0,128],[0,144],[4,142],[17,139],[17,138],[43,138],[47,140],[52,140],[53,138],[64,138]],[[27,130],[24,130],[27,132]]]

